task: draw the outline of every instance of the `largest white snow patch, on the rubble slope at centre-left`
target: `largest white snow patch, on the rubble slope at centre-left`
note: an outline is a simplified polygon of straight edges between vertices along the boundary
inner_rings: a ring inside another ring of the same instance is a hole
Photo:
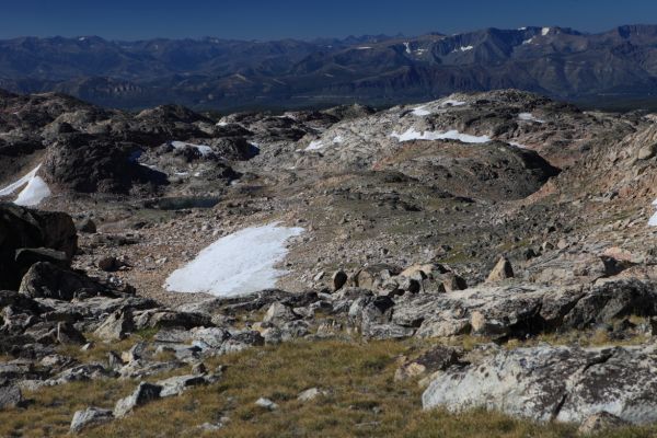
[[[164,288],[218,297],[245,296],[273,288],[286,274],[274,267],[288,252],[286,241],[303,231],[303,228],[278,227],[275,222],[223,237],[173,272]]]

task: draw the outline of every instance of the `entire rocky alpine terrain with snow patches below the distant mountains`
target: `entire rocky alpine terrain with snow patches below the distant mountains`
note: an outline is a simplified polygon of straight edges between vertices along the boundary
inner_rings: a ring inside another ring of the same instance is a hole
[[[516,90],[2,91],[0,436],[654,436],[656,157]]]

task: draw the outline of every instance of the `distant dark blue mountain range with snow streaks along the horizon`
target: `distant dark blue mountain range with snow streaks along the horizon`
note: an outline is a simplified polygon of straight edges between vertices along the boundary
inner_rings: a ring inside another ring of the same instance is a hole
[[[126,108],[384,105],[508,88],[568,100],[646,97],[657,93],[657,25],[313,42],[22,37],[0,41],[0,88]]]

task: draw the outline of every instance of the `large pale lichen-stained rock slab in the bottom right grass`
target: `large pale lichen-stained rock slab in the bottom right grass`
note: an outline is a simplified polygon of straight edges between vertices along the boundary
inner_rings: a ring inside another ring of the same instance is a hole
[[[450,368],[422,396],[425,410],[474,407],[537,420],[577,422],[607,412],[632,424],[657,422],[655,346],[539,346]]]

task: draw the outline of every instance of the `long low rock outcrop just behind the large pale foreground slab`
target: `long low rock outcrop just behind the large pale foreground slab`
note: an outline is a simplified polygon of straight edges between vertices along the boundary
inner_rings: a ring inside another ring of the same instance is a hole
[[[376,301],[360,299],[349,314],[360,321],[365,334],[372,324],[387,324],[427,337],[465,333],[523,337],[586,328],[631,314],[656,315],[655,293],[652,283],[637,280],[586,287],[479,286],[437,296],[402,296],[383,308]]]

